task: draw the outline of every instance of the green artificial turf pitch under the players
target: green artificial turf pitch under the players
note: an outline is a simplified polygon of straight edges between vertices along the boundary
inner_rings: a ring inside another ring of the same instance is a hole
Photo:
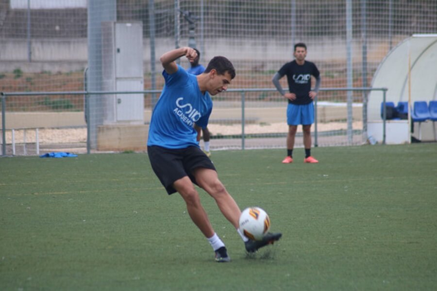
[[[0,290],[435,290],[437,144],[213,152],[281,241],[247,256],[213,199],[214,253],[146,154],[0,159]]]

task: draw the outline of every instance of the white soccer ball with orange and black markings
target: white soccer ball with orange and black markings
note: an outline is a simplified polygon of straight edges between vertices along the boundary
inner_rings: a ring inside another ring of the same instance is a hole
[[[259,207],[243,210],[238,221],[240,231],[249,239],[261,241],[269,231],[270,218],[266,211]]]

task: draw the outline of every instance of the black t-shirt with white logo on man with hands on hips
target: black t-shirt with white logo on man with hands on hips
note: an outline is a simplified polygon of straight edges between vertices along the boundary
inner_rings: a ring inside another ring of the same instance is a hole
[[[288,100],[288,103],[302,105],[313,102],[308,95],[311,91],[311,75],[315,78],[320,75],[314,63],[305,61],[303,65],[298,65],[294,60],[283,65],[278,73],[281,77],[287,76],[290,93],[296,94],[296,99],[294,101]]]

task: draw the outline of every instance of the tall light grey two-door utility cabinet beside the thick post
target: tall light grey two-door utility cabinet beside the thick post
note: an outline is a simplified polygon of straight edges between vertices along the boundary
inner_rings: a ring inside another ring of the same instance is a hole
[[[143,24],[101,23],[102,90],[143,91]],[[103,124],[144,124],[143,94],[103,95]]]

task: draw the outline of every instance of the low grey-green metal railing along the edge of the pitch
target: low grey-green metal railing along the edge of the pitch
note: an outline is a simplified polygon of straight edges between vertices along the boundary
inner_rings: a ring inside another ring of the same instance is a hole
[[[228,93],[240,93],[241,94],[241,149],[245,148],[245,95],[248,92],[276,92],[276,89],[270,88],[253,88],[253,89],[228,89]],[[287,91],[287,89],[286,89]],[[357,91],[357,92],[369,92],[369,91],[381,91],[383,93],[383,102],[386,103],[387,88],[320,88],[320,92],[330,91]],[[161,93],[161,90],[143,90],[143,91],[65,91],[65,92],[1,92],[1,129],[2,129],[2,155],[6,156],[6,98],[12,96],[53,96],[53,95],[84,95],[85,97],[85,119],[89,120],[89,96],[90,95],[106,95],[106,94],[157,94]],[[386,143],[386,107],[383,110],[383,141]],[[348,140],[352,139],[352,101],[348,100]],[[363,124],[366,124],[367,120],[363,120]],[[90,125],[87,122],[86,125],[86,152],[90,153]],[[315,146],[318,146],[317,142],[317,98],[315,99]]]

